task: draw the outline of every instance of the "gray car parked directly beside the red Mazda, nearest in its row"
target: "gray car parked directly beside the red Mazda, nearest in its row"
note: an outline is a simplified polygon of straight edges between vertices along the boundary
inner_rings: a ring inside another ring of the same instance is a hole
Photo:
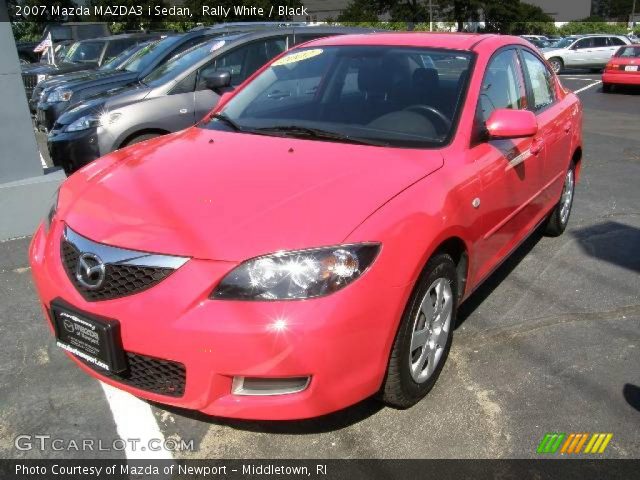
[[[217,37],[158,67],[133,87],[66,111],[49,134],[55,165],[67,172],[118,148],[187,128],[262,65],[301,42],[372,30],[295,27]],[[275,92],[274,95],[278,95]]]

